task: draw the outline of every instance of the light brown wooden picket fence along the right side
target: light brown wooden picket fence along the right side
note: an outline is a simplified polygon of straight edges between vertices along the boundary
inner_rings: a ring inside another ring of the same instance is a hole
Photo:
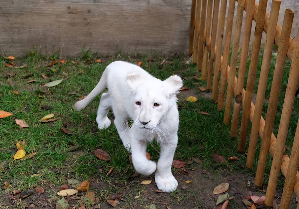
[[[223,122],[227,125],[229,124],[231,117],[231,106],[234,96],[231,137],[238,136],[239,113],[240,107],[242,106],[242,120],[238,144],[238,151],[241,153],[245,152],[248,122],[249,120],[252,122],[246,161],[246,166],[250,169],[252,169],[254,163],[257,137],[259,135],[262,138],[254,182],[257,186],[262,186],[263,184],[268,152],[272,155],[273,162],[266,192],[266,205],[272,206],[273,204],[277,180],[281,170],[286,177],[286,181],[280,208],[289,208],[293,190],[296,196],[299,197],[299,121],[294,136],[291,157],[284,155],[286,136],[299,78],[299,30],[295,40],[290,37],[294,12],[290,9],[285,10],[283,25],[281,27],[277,24],[281,3],[280,0],[272,1],[270,14],[266,13],[267,0],[260,0],[259,3],[256,3],[255,0],[237,0],[237,2],[236,0],[228,0],[227,18],[225,18],[227,0],[221,1],[220,10],[219,1],[220,0],[192,0],[189,54],[193,54],[193,63],[197,63],[197,69],[201,71],[202,79],[207,79],[206,89],[212,89],[212,99],[218,102],[218,109],[223,110],[223,108],[225,108]],[[236,3],[237,12],[234,16]],[[242,32],[244,10],[246,11],[246,19],[243,27],[242,47],[240,48],[241,54],[239,56],[239,46],[241,44],[240,34]],[[253,20],[256,22],[256,25],[250,55],[246,90],[244,90],[243,85]],[[224,27],[225,24],[226,27]],[[234,34],[233,37],[231,37],[233,27]],[[263,31],[266,33],[266,44],[264,46],[257,98],[254,105],[252,102],[252,95],[254,93],[254,82],[256,79]],[[228,63],[231,43],[231,59],[230,63]],[[272,84],[274,85],[271,86],[265,121],[262,117],[262,109],[265,99],[273,43],[278,46],[278,52],[272,81]],[[279,130],[276,137],[273,134],[272,129],[286,57],[292,61],[292,64],[289,72],[289,80],[283,103]],[[239,64],[238,78],[236,77],[237,64]],[[226,83],[227,91],[225,98]],[[297,205],[297,208],[299,209],[299,204]]]

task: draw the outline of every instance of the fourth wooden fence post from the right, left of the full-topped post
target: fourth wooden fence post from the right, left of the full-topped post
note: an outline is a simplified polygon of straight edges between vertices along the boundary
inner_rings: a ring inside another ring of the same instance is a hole
[[[255,102],[254,115],[252,119],[251,134],[249,140],[246,167],[252,169],[254,162],[255,149],[257,147],[257,137],[260,130],[260,119],[262,116],[263,104],[265,99],[268,74],[270,69],[276,25],[280,9],[280,0],[273,0],[270,11],[269,27],[267,30],[266,44],[264,48],[263,61],[260,72],[260,80],[257,89],[257,99]]]

